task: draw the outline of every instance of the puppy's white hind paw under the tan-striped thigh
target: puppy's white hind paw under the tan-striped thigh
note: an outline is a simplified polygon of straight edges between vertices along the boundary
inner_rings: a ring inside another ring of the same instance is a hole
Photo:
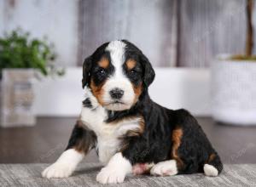
[[[175,160],[160,161],[151,168],[150,174],[154,176],[171,176],[177,174],[177,164]]]

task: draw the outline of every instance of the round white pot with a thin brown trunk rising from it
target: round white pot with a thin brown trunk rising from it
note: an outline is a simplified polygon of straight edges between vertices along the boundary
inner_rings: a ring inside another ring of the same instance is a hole
[[[253,0],[247,0],[245,54],[220,55],[212,64],[212,116],[218,122],[256,125],[256,56]]]

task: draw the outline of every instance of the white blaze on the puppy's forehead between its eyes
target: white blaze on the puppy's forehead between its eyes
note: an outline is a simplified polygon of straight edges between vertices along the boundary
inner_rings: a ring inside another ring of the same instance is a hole
[[[125,62],[125,46],[125,42],[116,40],[109,42],[106,48],[106,51],[110,53],[111,63],[115,68],[114,77],[124,77],[122,65]]]

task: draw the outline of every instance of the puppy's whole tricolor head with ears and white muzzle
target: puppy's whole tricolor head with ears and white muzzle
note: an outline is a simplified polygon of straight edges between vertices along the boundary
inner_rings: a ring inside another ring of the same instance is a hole
[[[130,109],[153,81],[147,57],[125,40],[104,43],[84,60],[83,88],[89,87],[99,104],[111,111]]]

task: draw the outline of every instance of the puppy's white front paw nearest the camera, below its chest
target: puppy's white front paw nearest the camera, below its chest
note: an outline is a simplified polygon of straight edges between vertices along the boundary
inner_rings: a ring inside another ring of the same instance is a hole
[[[101,184],[117,184],[125,180],[125,172],[110,167],[103,167],[101,172],[97,174],[96,181]]]

